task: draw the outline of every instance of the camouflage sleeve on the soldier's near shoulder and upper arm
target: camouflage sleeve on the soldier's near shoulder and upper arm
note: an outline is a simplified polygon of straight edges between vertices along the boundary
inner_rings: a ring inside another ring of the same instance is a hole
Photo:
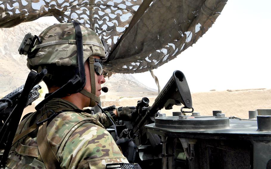
[[[65,143],[61,168],[103,169],[107,163],[129,163],[112,136],[102,127],[84,123]]]

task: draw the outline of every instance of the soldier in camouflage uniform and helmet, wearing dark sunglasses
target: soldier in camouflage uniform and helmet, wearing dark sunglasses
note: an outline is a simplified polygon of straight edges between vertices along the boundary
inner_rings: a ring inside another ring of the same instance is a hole
[[[41,44],[36,47],[35,55],[28,55],[29,69],[48,70],[43,81],[49,93],[60,89],[78,74],[75,27],[74,23],[49,26],[39,35]],[[105,82],[101,62],[105,51],[95,32],[82,25],[79,27],[85,69],[83,89],[68,89],[67,93],[61,93],[63,96],[52,98],[42,109],[24,118],[17,129],[7,168],[93,169],[106,168],[109,163],[129,163],[105,130],[112,125],[108,120],[108,117],[114,120],[112,116],[108,112],[106,116],[82,111],[84,107],[93,107],[99,100],[101,84]],[[115,112],[114,115],[125,119],[131,117],[129,111]]]

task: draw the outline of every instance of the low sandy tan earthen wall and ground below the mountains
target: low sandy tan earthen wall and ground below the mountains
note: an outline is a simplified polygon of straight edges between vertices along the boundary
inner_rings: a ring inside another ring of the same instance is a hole
[[[194,112],[201,115],[212,115],[213,110],[221,110],[226,116],[248,118],[248,111],[255,109],[271,109],[271,89],[264,90],[228,90],[210,91],[203,93],[192,93]],[[153,104],[155,96],[148,97],[150,105]],[[136,106],[138,98],[121,98],[121,106]],[[34,107],[39,101],[24,110],[27,112],[35,111]],[[173,106],[171,110],[162,109],[161,113],[167,116],[172,112],[180,111],[181,106]]]

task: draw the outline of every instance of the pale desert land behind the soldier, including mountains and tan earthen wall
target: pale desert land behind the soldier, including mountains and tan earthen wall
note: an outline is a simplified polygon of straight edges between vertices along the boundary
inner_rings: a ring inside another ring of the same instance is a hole
[[[26,66],[26,56],[18,54],[18,47],[25,34],[33,35],[48,27],[46,23],[28,22],[13,28],[0,29],[0,98],[24,84],[29,69]],[[109,88],[101,98],[104,103],[114,103],[117,106],[136,106],[142,97],[150,99],[150,105],[157,96],[157,90],[151,89],[138,82],[131,74],[114,74],[106,79],[104,86]],[[25,109],[24,112],[35,111],[35,105],[46,93],[46,87],[41,83],[41,97]],[[226,116],[248,118],[248,111],[255,109],[271,109],[271,89],[242,89],[209,91],[192,93],[194,112],[201,115],[212,115],[213,110],[221,110]],[[106,105],[106,104],[103,104]],[[173,111],[180,111],[180,106],[172,110],[161,110],[161,113],[172,115]]]

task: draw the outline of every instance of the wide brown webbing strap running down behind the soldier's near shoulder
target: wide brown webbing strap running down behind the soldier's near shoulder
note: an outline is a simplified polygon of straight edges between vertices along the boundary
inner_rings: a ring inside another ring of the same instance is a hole
[[[37,135],[38,150],[41,154],[42,161],[46,169],[60,168],[60,163],[52,150],[52,147],[47,138],[47,121],[39,126]]]

